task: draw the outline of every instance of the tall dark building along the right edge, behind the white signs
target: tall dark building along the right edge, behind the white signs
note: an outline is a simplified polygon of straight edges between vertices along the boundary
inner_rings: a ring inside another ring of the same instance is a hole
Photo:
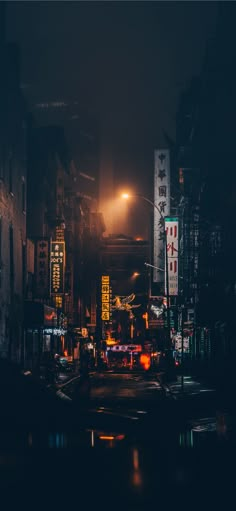
[[[215,36],[180,98],[176,124],[182,296],[201,332],[196,356],[221,361],[235,351],[235,21],[235,5],[220,2]]]

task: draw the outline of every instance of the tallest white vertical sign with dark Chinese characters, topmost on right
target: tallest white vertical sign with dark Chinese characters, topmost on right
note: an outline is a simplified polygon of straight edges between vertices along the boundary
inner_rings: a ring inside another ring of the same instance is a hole
[[[153,265],[165,268],[163,218],[170,214],[170,154],[169,149],[154,151],[154,232]],[[153,282],[163,283],[164,272],[153,270]]]

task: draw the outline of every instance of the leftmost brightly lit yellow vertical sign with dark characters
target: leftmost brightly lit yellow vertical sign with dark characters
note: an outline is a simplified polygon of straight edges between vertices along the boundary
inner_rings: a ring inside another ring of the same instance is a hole
[[[65,242],[51,241],[50,248],[50,292],[64,293]]]

